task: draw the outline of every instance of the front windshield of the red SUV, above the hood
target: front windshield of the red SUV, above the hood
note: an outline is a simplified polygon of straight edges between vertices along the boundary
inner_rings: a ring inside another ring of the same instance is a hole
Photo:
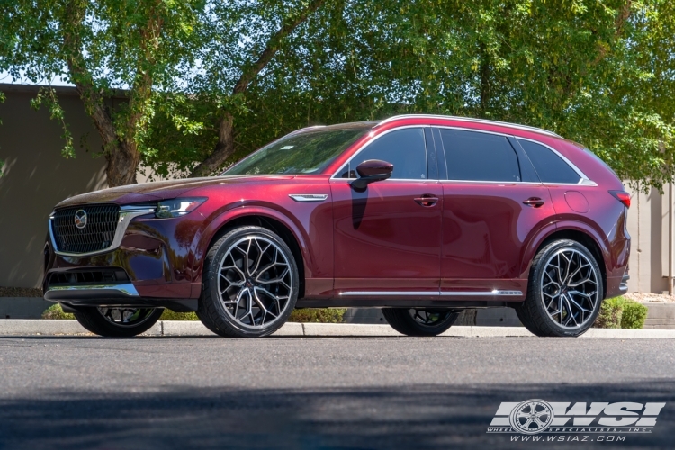
[[[222,175],[320,174],[371,128],[324,128],[292,134],[260,148]]]

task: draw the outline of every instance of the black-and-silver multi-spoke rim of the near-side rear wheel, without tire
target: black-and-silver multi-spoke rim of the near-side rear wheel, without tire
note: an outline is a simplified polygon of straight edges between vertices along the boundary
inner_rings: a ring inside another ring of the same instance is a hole
[[[598,304],[598,274],[579,250],[562,248],[548,258],[541,280],[546,312],[565,328],[577,328]]]

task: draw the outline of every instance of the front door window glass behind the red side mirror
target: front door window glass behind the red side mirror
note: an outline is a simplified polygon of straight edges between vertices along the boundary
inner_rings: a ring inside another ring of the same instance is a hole
[[[350,169],[368,159],[381,159],[392,163],[392,178],[424,180],[427,178],[427,148],[421,128],[406,128],[387,133],[375,139],[350,163]],[[355,174],[352,174],[355,175]]]

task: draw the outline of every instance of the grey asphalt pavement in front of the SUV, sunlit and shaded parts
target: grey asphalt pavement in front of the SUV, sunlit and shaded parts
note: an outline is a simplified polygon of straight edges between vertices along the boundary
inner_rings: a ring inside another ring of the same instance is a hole
[[[503,401],[666,402],[675,340],[0,338],[0,448],[540,448],[488,434]],[[592,437],[597,437],[593,435]]]

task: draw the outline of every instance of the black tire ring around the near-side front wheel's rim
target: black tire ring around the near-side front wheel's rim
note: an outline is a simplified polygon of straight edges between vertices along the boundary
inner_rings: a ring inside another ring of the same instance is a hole
[[[286,307],[282,314],[274,322],[270,322],[262,327],[252,329],[248,328],[244,324],[235,320],[225,308],[225,305],[220,301],[220,292],[218,278],[220,276],[220,263],[222,262],[223,257],[225,257],[229,247],[231,247],[235,242],[241,238],[266,238],[275,243],[280,247],[285,254],[286,259],[288,260],[289,266],[291,266],[291,277],[293,279],[293,289],[290,293],[289,301],[286,303]],[[253,337],[262,337],[268,336],[274,333],[277,329],[280,329],[284,326],[286,320],[293,312],[295,308],[295,302],[298,299],[298,293],[300,289],[300,277],[297,263],[295,262],[295,257],[293,257],[293,252],[289,248],[284,240],[277,236],[274,232],[264,229],[261,227],[242,227],[239,229],[233,229],[229,231],[223,238],[220,238],[214,247],[217,247],[216,251],[211,253],[207,257],[204,279],[202,281],[202,290],[204,293],[208,294],[208,299],[202,299],[202,301],[211,302],[213,307],[218,313],[219,319],[224,322],[223,325],[228,328],[230,331],[233,331],[236,335],[242,338],[253,338]],[[220,327],[216,325],[217,329]]]

